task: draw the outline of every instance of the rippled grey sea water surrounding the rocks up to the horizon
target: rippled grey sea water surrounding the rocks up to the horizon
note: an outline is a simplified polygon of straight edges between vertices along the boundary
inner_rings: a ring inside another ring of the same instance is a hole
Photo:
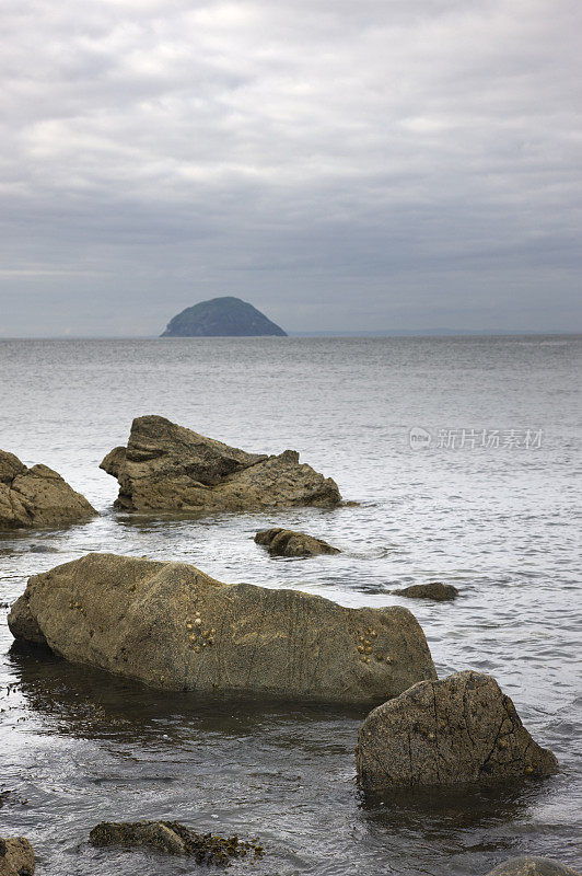
[[[1,602],[88,551],[184,560],[346,606],[450,581],[454,603],[406,601],[439,675],[492,673],[562,771],[503,792],[366,799],[353,760],[362,714],[200,702],[40,660],[11,648],[2,609],[0,833],[30,838],[47,876],[195,873],[185,860],[86,843],[103,819],[141,818],[258,834],[265,858],[233,872],[260,876],[479,876],[524,852],[580,864],[581,364],[582,338],[570,336],[1,341],[0,447],[56,469],[102,515],[0,538]],[[248,450],[298,449],[361,505],[115,514],[117,484],[98,463],[150,413]],[[412,427],[432,435],[428,448],[410,448]],[[344,553],[269,558],[253,535],[276,525]]]

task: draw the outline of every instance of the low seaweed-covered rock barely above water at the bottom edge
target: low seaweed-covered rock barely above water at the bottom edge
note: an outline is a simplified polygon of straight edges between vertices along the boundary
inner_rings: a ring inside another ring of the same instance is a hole
[[[193,855],[197,864],[222,866],[249,853],[260,857],[264,851],[258,840],[195,833],[179,821],[102,821],[93,828],[89,841],[95,846],[147,846],[173,855]]]

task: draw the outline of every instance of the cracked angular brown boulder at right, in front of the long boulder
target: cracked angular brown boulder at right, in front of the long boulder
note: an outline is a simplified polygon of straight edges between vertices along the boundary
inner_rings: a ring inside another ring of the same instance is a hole
[[[360,728],[357,764],[362,785],[379,791],[558,771],[497,681],[470,671],[415,684],[371,712]]]

